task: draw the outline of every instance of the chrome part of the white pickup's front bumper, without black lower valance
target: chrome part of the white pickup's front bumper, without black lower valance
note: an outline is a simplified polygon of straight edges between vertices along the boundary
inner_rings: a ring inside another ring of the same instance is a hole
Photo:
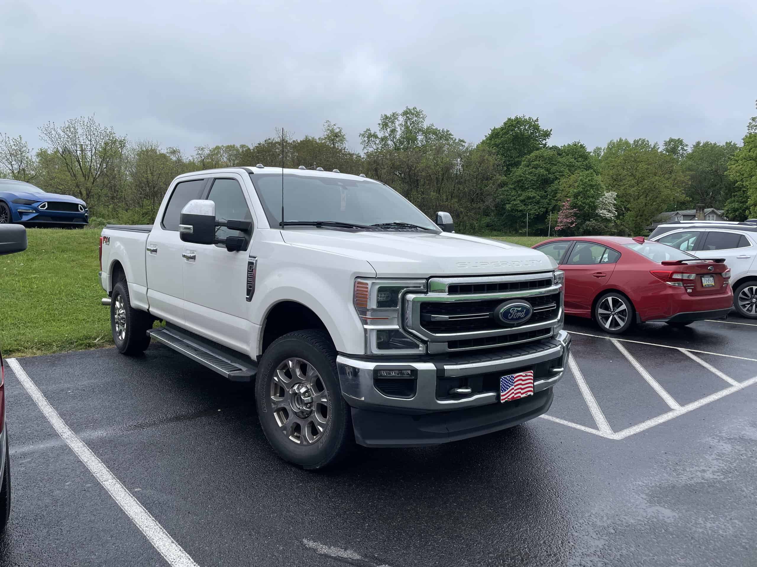
[[[535,354],[511,356],[495,360],[476,361],[455,364],[453,359],[444,364],[419,361],[380,361],[349,358],[338,355],[336,359],[339,371],[341,392],[347,404],[352,407],[384,408],[399,411],[450,411],[493,404],[499,401],[498,392],[483,392],[466,398],[453,400],[439,400],[436,395],[438,377],[476,376],[480,374],[516,370],[547,361],[554,361],[554,376],[537,379],[534,382],[534,393],[551,388],[562,378],[570,352],[571,337],[569,333],[560,331],[551,340],[553,346]],[[391,398],[379,392],[373,385],[375,370],[416,370],[417,387],[413,398]]]

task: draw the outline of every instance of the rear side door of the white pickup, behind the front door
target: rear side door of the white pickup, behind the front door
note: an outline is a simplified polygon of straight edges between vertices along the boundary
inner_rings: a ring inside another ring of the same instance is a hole
[[[179,216],[190,200],[201,199],[207,181],[201,178],[177,183],[147,240],[145,267],[150,313],[180,325],[184,324],[185,243],[179,238]]]

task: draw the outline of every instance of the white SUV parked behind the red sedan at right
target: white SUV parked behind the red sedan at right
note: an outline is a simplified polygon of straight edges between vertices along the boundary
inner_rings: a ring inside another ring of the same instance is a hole
[[[724,258],[731,268],[734,308],[757,319],[757,226],[746,222],[668,222],[650,234],[699,258]]]

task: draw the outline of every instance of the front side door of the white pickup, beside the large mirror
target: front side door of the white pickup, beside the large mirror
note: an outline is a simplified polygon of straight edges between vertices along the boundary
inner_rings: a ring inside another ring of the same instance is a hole
[[[210,181],[205,198],[216,203],[217,220],[253,221],[238,175],[224,174]],[[245,248],[229,252],[223,244],[183,243],[185,327],[246,352],[252,333],[246,301],[252,233],[219,227],[216,234],[245,237]]]

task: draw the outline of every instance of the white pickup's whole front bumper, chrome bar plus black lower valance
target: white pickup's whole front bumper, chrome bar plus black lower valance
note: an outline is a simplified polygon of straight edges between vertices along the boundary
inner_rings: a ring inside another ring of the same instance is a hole
[[[427,356],[408,361],[339,355],[341,392],[353,408],[357,441],[371,446],[428,445],[481,435],[537,417],[549,409],[552,395],[547,396],[544,391],[551,392],[551,387],[562,378],[570,342],[569,333],[560,331],[553,339],[497,351],[500,355],[473,353],[466,357]],[[382,369],[414,370],[416,383],[412,395],[394,397],[380,391],[374,379],[376,370]],[[519,404],[501,404],[499,376],[519,370],[534,370],[534,396]],[[492,379],[497,385],[495,389],[486,386],[491,386]],[[459,387],[472,392],[447,395],[448,390]],[[516,411],[516,407],[525,409]],[[410,435],[408,427],[413,423],[421,429]],[[410,436],[387,436],[395,430]]]

